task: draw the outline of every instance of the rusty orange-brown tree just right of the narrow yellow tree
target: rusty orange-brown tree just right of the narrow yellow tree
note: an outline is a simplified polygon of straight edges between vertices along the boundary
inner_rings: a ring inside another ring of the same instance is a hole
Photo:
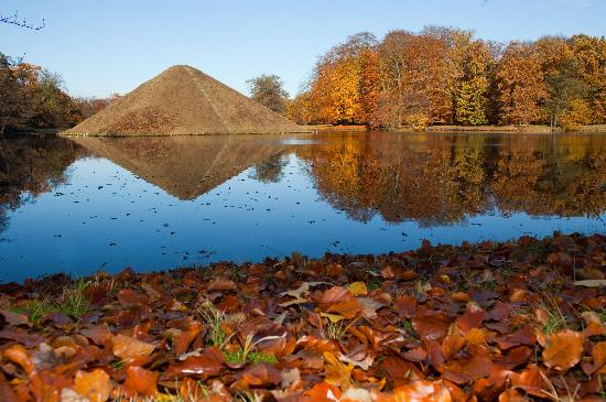
[[[497,67],[496,84],[501,123],[530,124],[541,120],[548,87],[532,44],[509,43]]]

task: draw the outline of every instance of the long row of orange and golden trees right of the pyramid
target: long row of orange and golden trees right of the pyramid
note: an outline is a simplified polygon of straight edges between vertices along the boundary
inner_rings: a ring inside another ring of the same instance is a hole
[[[289,101],[299,123],[416,129],[433,124],[606,123],[606,39],[507,44],[429,26],[349,36],[322,55]]]

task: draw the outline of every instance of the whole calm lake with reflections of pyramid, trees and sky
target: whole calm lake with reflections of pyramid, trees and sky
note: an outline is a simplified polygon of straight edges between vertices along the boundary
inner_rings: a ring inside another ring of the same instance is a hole
[[[0,143],[0,282],[606,232],[606,134]]]

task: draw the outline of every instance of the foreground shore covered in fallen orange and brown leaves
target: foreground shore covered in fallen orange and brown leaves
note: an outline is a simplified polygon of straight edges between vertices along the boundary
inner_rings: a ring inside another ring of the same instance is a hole
[[[0,285],[0,400],[602,401],[606,237]]]

